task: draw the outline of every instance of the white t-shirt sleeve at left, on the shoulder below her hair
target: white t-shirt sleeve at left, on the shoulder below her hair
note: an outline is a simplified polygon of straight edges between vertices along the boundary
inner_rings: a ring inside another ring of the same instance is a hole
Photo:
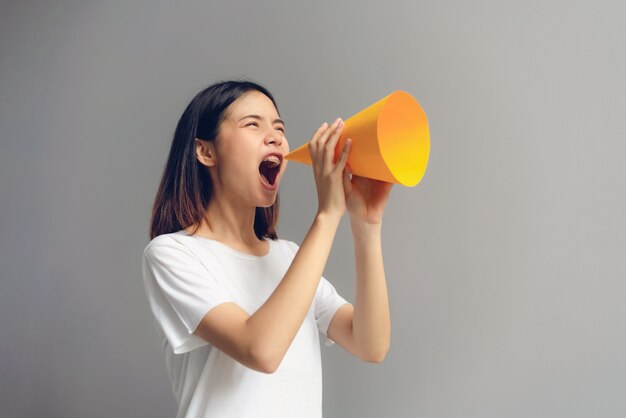
[[[171,239],[146,247],[142,272],[150,309],[174,353],[208,344],[193,335],[200,320],[217,305],[234,301],[214,273]]]

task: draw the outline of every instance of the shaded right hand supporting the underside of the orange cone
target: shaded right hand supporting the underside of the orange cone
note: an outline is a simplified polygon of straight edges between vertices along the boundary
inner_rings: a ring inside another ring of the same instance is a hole
[[[382,223],[383,212],[393,184],[356,175],[352,175],[350,179],[349,174],[350,168],[346,167],[343,188],[350,221]]]

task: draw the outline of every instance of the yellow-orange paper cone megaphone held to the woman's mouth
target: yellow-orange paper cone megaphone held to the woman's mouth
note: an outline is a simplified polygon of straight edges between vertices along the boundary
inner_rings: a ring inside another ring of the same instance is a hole
[[[424,176],[430,154],[428,120],[417,100],[395,91],[344,123],[335,148],[335,161],[347,138],[352,139],[348,164],[352,174],[415,186]],[[285,156],[312,164],[309,144]]]

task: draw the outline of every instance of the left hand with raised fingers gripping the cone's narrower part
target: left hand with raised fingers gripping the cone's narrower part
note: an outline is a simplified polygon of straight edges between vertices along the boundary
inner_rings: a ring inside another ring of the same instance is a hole
[[[346,144],[335,163],[335,147],[341,136],[344,123],[340,118],[328,126],[324,123],[313,134],[309,141],[309,154],[313,165],[313,175],[317,187],[318,215],[329,215],[336,217],[337,221],[346,209],[346,198],[344,192],[344,176],[348,154],[352,141],[346,140]]]

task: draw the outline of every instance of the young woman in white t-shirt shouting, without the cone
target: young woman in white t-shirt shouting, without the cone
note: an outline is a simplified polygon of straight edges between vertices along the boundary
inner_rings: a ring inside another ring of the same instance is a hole
[[[142,265],[177,417],[321,417],[319,332],[364,361],[384,359],[381,222],[392,185],[350,175],[350,140],[335,161],[342,128],[324,123],[310,140],[318,207],[298,246],[276,235],[289,146],[271,93],[220,82],[183,113]],[[322,277],[346,210],[354,306]]]

